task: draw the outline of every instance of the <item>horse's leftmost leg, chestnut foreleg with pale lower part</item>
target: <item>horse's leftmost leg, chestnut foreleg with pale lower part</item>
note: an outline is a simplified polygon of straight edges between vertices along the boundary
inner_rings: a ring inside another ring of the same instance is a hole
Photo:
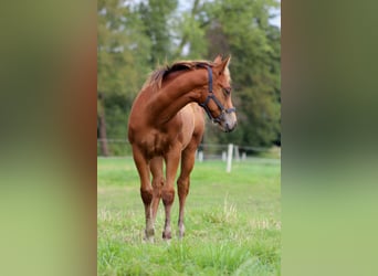
[[[148,161],[137,147],[133,147],[135,166],[140,178],[140,197],[145,205],[146,230],[145,238],[153,240],[155,234],[154,220],[151,214],[153,188],[149,180]]]

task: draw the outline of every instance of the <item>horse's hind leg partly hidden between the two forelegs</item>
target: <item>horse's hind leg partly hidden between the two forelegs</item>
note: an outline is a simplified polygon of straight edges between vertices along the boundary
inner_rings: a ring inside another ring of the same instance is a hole
[[[149,168],[153,173],[153,202],[151,202],[151,211],[153,211],[153,221],[155,224],[157,210],[159,208],[160,198],[161,198],[161,188],[164,187],[164,176],[162,176],[162,158],[155,157],[151,159],[149,163]]]

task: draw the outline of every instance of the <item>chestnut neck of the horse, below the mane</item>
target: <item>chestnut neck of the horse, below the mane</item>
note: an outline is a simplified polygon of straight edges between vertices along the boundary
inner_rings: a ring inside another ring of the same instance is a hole
[[[156,97],[151,98],[149,110],[155,124],[171,119],[182,107],[201,97],[200,87],[208,84],[206,70],[186,71],[162,84]]]

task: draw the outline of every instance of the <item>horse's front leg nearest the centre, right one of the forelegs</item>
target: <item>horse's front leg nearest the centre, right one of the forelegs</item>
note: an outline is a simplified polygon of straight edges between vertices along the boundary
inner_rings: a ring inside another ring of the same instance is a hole
[[[162,231],[162,238],[171,238],[170,231],[170,209],[175,200],[175,178],[180,162],[181,145],[176,144],[174,148],[166,155],[166,183],[161,190],[161,199],[166,211],[166,222]]]

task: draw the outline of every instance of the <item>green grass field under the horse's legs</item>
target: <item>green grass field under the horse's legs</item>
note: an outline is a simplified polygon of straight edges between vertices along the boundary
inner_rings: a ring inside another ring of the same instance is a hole
[[[132,158],[97,160],[98,275],[280,275],[281,162],[252,159],[197,162],[186,205],[186,236],[143,241],[144,208]]]

